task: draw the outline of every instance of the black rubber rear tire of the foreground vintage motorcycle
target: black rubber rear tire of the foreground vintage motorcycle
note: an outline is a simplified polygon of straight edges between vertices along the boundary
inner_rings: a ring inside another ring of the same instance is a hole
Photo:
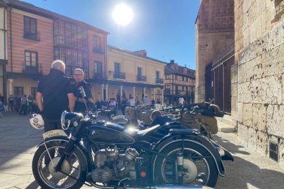
[[[176,149],[181,149],[181,146],[182,144],[180,141],[172,142],[167,147],[165,147],[161,151],[161,153],[163,153],[163,155],[167,155],[171,151],[175,151]],[[215,161],[213,160],[213,157],[211,156],[211,154],[208,151],[206,151],[203,147],[201,147],[200,145],[194,142],[185,141],[185,148],[198,151],[201,155],[205,157],[205,160],[207,161],[208,166],[209,166],[210,175],[209,175],[208,182],[204,186],[210,186],[214,188],[216,185],[217,179],[218,179],[218,171],[217,171],[217,166],[215,164]],[[155,179],[155,182],[158,184],[165,184],[163,177],[161,177],[161,175],[163,175],[161,166],[162,166],[164,159],[165,159],[164,157],[158,156],[156,159],[155,165],[154,165],[155,167],[154,179]]]

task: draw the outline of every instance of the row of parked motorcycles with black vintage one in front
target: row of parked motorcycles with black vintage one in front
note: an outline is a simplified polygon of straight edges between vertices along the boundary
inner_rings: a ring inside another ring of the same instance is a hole
[[[42,188],[213,188],[222,161],[233,161],[211,138],[222,116],[216,105],[161,110],[174,122],[152,127],[142,107],[110,121],[97,118],[104,111],[63,112],[62,130],[43,134],[32,162]]]

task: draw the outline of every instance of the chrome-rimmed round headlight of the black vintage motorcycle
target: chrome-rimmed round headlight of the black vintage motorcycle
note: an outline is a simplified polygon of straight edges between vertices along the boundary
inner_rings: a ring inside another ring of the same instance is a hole
[[[62,112],[60,118],[62,129],[67,130],[69,127],[77,127],[78,121],[83,117],[82,114],[76,112]]]

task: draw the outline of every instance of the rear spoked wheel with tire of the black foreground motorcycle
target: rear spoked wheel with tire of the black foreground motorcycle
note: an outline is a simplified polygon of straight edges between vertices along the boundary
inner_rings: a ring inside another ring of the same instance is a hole
[[[193,142],[185,142],[181,148],[181,142],[169,144],[162,151],[167,157],[158,157],[155,166],[155,180],[160,184],[178,184],[178,154],[183,155],[183,183],[182,185],[202,185],[214,187],[217,182],[218,172],[211,154]]]

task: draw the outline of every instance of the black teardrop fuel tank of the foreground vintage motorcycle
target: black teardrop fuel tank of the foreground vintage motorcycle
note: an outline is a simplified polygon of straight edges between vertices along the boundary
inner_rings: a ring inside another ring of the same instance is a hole
[[[132,136],[123,132],[124,127],[115,123],[105,125],[92,125],[88,128],[88,139],[95,143],[132,144]]]

